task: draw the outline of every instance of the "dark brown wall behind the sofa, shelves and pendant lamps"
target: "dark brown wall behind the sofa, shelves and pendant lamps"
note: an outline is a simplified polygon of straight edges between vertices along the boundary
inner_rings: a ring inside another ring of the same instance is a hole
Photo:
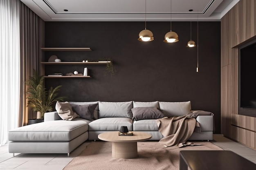
[[[220,22],[199,22],[197,48],[186,47],[190,22],[172,22],[179,42],[164,43],[170,22],[147,22],[152,42],[139,42],[144,22],[45,22],[45,47],[90,47],[91,52],[45,52],[45,61],[97,61],[111,58],[116,73],[104,75],[105,66],[87,65],[90,79],[47,79],[46,86],[63,85],[69,101],[191,101],[192,109],[215,114],[220,133]],[[197,23],[192,22],[197,42]],[[83,73],[85,66],[46,66],[46,74]]]

